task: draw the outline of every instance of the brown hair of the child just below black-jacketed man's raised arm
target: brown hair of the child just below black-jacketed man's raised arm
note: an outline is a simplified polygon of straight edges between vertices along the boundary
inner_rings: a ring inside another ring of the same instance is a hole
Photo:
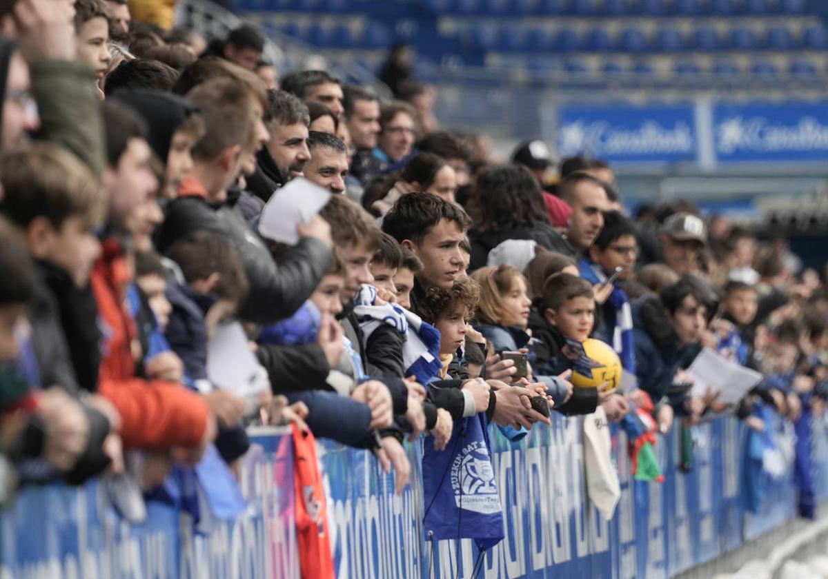
[[[181,267],[188,284],[219,274],[213,294],[241,304],[248,294],[248,276],[242,257],[226,237],[205,230],[192,232],[173,243],[166,256]]]

